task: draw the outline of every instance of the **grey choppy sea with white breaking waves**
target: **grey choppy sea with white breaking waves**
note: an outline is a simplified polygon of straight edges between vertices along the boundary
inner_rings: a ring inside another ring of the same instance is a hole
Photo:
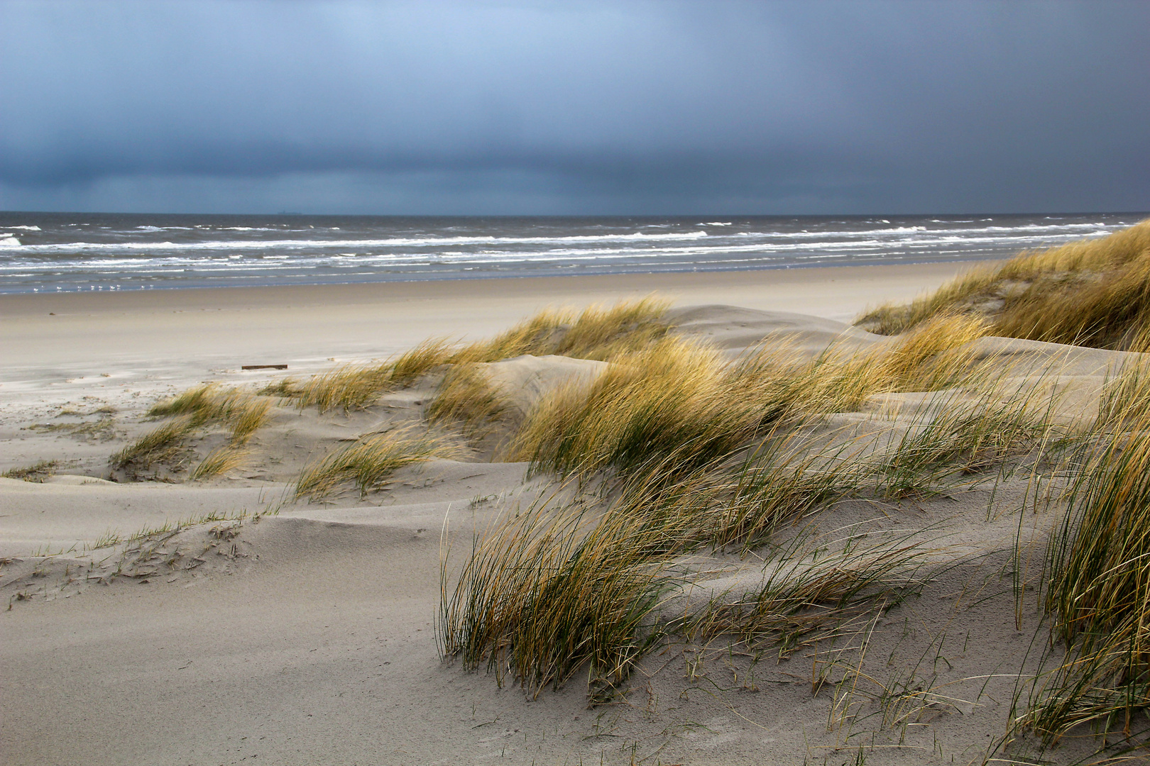
[[[0,293],[979,261],[1102,237],[1147,216],[0,212]]]

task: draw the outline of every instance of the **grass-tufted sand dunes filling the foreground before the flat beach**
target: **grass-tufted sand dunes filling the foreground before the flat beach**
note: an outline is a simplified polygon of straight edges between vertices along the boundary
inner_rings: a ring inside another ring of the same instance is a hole
[[[1141,542],[1080,541],[1141,497],[1144,357],[996,327],[646,300],[61,413],[0,479],[6,753],[1142,752],[1142,586],[1103,577]]]

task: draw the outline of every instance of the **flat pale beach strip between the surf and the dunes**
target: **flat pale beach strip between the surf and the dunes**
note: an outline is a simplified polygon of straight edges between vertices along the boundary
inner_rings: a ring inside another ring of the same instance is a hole
[[[992,263],[992,262],[975,262]],[[383,358],[429,336],[490,335],[549,305],[656,293],[675,305],[729,304],[851,322],[906,301],[972,262],[760,271],[355,283],[0,296],[0,379]]]

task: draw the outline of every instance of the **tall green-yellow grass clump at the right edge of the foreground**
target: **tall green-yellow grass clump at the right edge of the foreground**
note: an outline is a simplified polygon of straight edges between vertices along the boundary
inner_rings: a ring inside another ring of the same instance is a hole
[[[1044,605],[1066,656],[1041,676],[1017,726],[1052,744],[1071,729],[1132,734],[1150,710],[1150,379],[1119,379],[1127,407],[1104,400],[1051,537]]]

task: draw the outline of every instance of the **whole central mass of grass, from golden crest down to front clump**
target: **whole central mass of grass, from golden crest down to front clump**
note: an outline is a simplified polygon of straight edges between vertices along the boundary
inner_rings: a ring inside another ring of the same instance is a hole
[[[693,621],[656,620],[687,577],[676,564],[683,554],[703,546],[747,552],[783,524],[888,492],[891,477],[900,493],[928,490],[1041,447],[1049,401],[1022,390],[998,399],[968,349],[982,333],[976,318],[941,317],[862,359],[806,361],[768,347],[734,365],[713,349],[664,339],[615,357],[590,382],[561,387],[528,415],[513,457],[538,471],[606,475],[614,501],[605,510],[573,504],[506,516],[475,539],[458,577],[445,562],[443,655],[509,672],[531,694],[585,664],[595,701],[668,629],[757,642],[827,635],[838,620],[894,603],[919,583],[908,573],[926,552],[908,542],[848,546],[825,567],[798,557],[753,597]],[[820,425],[821,412],[858,407],[872,393],[956,384],[975,393],[935,394],[934,407],[900,424],[903,439]]]

